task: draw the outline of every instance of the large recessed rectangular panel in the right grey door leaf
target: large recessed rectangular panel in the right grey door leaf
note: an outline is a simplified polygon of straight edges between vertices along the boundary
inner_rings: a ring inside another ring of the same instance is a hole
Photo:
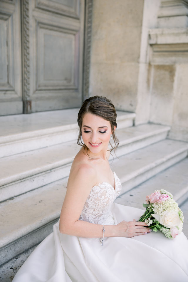
[[[75,53],[79,48],[79,31],[38,26],[37,90],[78,88],[75,80],[78,56],[76,58]]]

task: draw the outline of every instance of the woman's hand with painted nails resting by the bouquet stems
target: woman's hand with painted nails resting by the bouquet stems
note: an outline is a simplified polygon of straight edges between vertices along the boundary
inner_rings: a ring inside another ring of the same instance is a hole
[[[133,221],[121,221],[118,223],[115,230],[116,237],[127,237],[131,238],[137,235],[147,234],[151,232],[149,227],[145,227],[145,222],[139,222],[134,219]]]

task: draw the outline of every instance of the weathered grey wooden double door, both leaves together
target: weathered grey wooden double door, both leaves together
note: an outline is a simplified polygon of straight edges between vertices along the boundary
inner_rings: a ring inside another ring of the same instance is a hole
[[[0,115],[81,105],[84,18],[85,0],[0,0]]]

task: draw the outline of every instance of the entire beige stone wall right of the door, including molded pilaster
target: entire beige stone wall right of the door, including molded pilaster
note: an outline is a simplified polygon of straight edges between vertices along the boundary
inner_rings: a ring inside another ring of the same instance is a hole
[[[90,95],[188,141],[188,1],[93,1]]]

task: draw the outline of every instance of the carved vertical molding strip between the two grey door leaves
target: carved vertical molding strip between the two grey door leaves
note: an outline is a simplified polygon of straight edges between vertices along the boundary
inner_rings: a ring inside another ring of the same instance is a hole
[[[30,55],[29,55],[29,0],[22,0],[22,46],[23,46],[23,99],[24,113],[31,110],[30,101]],[[29,108],[28,108],[29,105]]]

